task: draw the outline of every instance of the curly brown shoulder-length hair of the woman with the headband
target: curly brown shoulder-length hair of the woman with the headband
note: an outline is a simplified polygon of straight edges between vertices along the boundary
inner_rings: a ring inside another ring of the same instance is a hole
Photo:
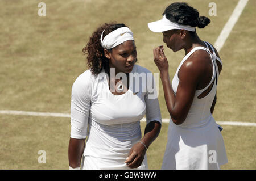
[[[90,71],[92,71],[93,75],[98,75],[102,68],[104,68],[105,72],[109,74],[109,59],[105,57],[104,48],[101,46],[101,33],[103,33],[103,39],[110,32],[117,30],[118,28],[126,27],[125,24],[117,24],[113,23],[105,23],[96,31],[93,32],[92,36],[90,36],[89,42],[86,44],[86,47],[82,49],[84,54],[88,54],[87,56],[87,65]],[[111,51],[111,49],[108,49]]]

